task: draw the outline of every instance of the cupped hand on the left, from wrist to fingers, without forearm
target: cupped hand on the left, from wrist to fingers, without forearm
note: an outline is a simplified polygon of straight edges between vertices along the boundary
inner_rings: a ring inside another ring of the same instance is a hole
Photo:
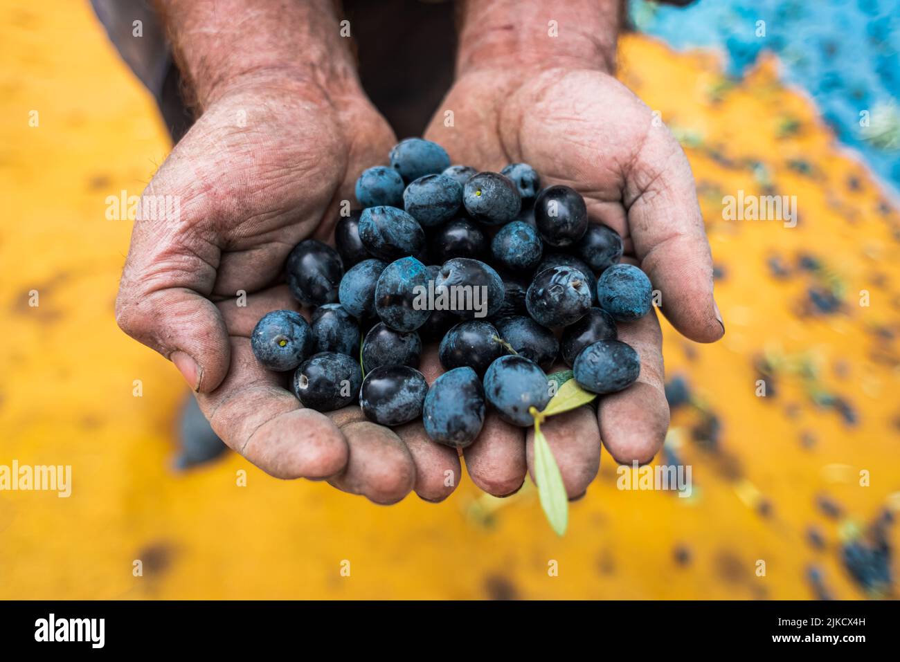
[[[121,328],[175,363],[229,447],[275,477],[330,479],[380,503],[410,491],[413,455],[429,461],[432,449],[408,449],[359,407],[302,408],[248,338],[266,312],[301,309],[286,256],[306,237],[329,240],[340,201],[394,142],[362,94],[278,78],[232,85],[144,192],[175,196],[177,218],[135,221],[116,301]]]

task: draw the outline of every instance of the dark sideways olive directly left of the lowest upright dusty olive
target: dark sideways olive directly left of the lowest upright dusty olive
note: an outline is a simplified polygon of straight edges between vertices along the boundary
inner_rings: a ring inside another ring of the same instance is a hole
[[[408,365],[384,365],[365,375],[359,406],[379,425],[403,425],[422,415],[428,383]]]

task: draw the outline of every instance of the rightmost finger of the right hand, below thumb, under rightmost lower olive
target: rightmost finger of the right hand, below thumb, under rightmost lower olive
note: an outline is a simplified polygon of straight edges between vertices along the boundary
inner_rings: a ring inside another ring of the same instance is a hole
[[[663,389],[662,332],[651,309],[644,318],[618,324],[618,339],[635,348],[641,373],[627,389],[600,396],[600,437],[619,464],[645,464],[662,447],[669,428],[669,403]]]

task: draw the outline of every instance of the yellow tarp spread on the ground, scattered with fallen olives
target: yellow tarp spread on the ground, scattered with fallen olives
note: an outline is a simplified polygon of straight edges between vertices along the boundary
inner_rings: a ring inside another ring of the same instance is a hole
[[[900,504],[900,219],[775,63],[735,86],[708,54],[622,42],[620,76],[688,150],[723,273],[722,343],[665,327],[667,370],[718,417],[719,450],[692,441],[696,408],[673,416],[687,499],[617,490],[604,453],[560,540],[534,489],[500,501],[464,482],[442,505],[379,507],[233,454],[171,470],[184,387],[115,326],[130,222],[104,216],[107,195],[139,194],[166,157],[155,105],[86,3],[4,3],[0,60],[0,464],[73,467],[70,498],[0,492],[0,598],[806,598],[810,565],[833,595],[865,596],[838,546],[892,494]],[[797,228],[722,219],[723,195],[767,183],[797,195]],[[821,267],[798,271],[806,254]],[[810,287],[838,292],[842,310],[809,314]],[[778,367],[766,398],[757,355]],[[817,407],[823,392],[858,424]],[[823,496],[842,514],[827,517]]]

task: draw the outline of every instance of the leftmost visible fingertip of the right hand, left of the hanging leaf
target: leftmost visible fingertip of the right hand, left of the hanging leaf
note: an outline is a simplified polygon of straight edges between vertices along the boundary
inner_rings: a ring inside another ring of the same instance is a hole
[[[484,416],[482,434],[463,455],[472,482],[494,497],[509,497],[525,482],[525,431],[496,412]]]

